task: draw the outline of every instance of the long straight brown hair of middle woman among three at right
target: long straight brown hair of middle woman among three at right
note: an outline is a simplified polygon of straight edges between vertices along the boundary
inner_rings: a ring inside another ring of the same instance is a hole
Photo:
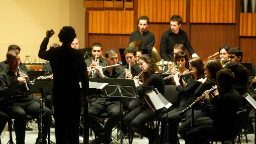
[[[191,66],[196,67],[197,69],[197,79],[204,77],[204,64],[203,61],[199,57],[192,58],[189,60]],[[195,79],[194,75],[191,75],[193,79]]]

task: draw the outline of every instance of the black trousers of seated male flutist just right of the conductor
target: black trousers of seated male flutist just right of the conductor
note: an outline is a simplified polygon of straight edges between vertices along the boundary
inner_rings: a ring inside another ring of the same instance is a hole
[[[120,102],[115,98],[98,98],[88,108],[88,121],[91,129],[103,141],[107,141],[112,128],[120,120],[120,106],[122,108],[122,104],[120,105]],[[98,121],[98,116],[104,112],[107,112],[108,118],[104,128],[102,128]]]

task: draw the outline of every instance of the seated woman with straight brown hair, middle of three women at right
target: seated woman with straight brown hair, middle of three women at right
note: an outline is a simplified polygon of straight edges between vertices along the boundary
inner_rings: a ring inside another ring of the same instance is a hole
[[[165,143],[166,136],[169,136],[170,143],[177,142],[177,133],[178,133],[178,125],[182,118],[185,118],[186,114],[180,115],[182,110],[187,107],[193,100],[193,94],[195,90],[199,87],[201,81],[200,79],[204,77],[204,67],[203,62],[199,57],[192,58],[189,60],[189,69],[194,71],[191,74],[191,77],[186,80],[187,86],[183,87],[180,83],[180,78],[178,74],[174,75],[174,81],[176,84],[176,90],[180,92],[180,106],[177,109],[173,109],[167,113],[165,113],[161,117],[161,135],[160,135],[160,142]],[[169,135],[165,133],[165,126],[167,123],[169,124]]]

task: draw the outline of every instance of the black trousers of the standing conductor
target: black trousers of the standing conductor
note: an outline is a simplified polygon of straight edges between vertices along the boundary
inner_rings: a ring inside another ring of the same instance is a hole
[[[81,95],[62,93],[53,96],[56,144],[78,144]]]

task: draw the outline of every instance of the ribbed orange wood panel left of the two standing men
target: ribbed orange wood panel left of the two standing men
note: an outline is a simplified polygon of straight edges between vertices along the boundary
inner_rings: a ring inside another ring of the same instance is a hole
[[[88,11],[90,34],[131,34],[133,11]]]

